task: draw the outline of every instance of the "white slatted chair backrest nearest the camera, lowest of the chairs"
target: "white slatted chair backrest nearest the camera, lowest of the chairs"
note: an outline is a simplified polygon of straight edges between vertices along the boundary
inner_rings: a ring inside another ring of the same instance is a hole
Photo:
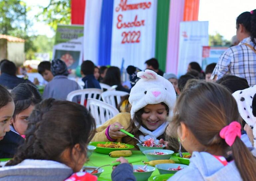
[[[103,124],[119,113],[115,107],[97,99],[88,98],[87,105],[88,110],[95,119],[96,126]]]

